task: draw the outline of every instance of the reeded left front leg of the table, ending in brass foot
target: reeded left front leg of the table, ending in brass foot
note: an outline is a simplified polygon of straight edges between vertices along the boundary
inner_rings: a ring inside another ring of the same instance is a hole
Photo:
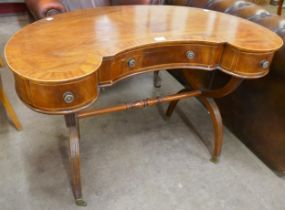
[[[75,203],[78,206],[87,206],[82,198],[80,180],[80,152],[79,152],[79,127],[75,114],[67,114],[65,117],[66,126],[69,128],[69,161],[71,171],[72,191]]]

